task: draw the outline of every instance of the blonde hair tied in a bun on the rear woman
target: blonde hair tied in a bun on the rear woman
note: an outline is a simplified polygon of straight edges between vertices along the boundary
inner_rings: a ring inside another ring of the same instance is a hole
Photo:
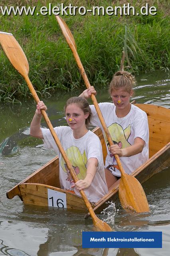
[[[109,94],[111,94],[112,89],[119,89],[125,87],[125,90],[130,93],[133,86],[136,85],[135,77],[127,71],[118,71],[114,74],[111,83],[109,85]]]

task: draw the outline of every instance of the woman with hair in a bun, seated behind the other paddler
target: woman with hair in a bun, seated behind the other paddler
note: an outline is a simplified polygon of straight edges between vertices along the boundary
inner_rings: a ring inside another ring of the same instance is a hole
[[[135,85],[135,79],[132,74],[125,71],[117,72],[109,86],[113,103],[99,103],[101,113],[115,144],[109,148],[105,163],[108,188],[121,177],[114,154],[119,155],[122,166],[128,174],[148,160],[148,119],[144,111],[130,104],[133,85]],[[80,96],[90,98],[91,94],[96,94],[93,86]],[[90,108],[93,114],[91,124],[99,126],[103,130],[95,106],[91,105]],[[106,137],[105,140],[108,144]]]

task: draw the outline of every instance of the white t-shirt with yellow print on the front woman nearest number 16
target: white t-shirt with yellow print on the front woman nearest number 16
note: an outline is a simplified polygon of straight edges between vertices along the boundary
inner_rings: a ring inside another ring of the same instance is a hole
[[[42,128],[41,130],[43,133],[44,146],[46,148],[53,148],[59,156],[59,180],[61,188],[65,190],[74,190],[75,194],[81,196],[79,191],[77,191],[75,188],[71,188],[74,181],[61,153],[59,152],[50,130],[46,128]],[[90,187],[87,190],[84,190],[89,201],[97,202],[108,193],[101,142],[98,136],[93,132],[88,131],[83,137],[75,139],[73,136],[73,130],[69,126],[57,126],[54,128],[54,130],[79,180],[83,180],[86,176],[87,160],[89,160],[89,158],[97,158],[98,166],[95,177]]]

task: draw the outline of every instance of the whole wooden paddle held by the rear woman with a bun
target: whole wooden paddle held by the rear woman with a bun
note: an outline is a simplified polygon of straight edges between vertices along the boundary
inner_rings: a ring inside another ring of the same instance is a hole
[[[89,80],[87,78],[83,65],[81,63],[79,55],[77,54],[77,50],[76,50],[77,47],[75,44],[75,40],[73,39],[73,35],[71,34],[71,31],[69,30],[67,24],[63,21],[63,19],[60,16],[55,16],[55,17],[57,19],[57,22],[59,23],[59,26],[63,32],[63,35],[65,36],[65,39],[67,40],[67,44],[69,45],[69,47],[71,48],[71,51],[73,52],[74,58],[77,62],[77,66],[79,67],[79,70],[83,77],[85,85],[87,88],[89,88],[91,85],[89,83]],[[91,94],[91,99],[93,101],[93,104],[96,108],[100,122],[107,136],[109,145],[111,146],[113,145],[113,140],[111,138],[111,135],[109,133],[105,120],[101,114],[101,110],[99,108],[99,105],[97,103],[97,100],[94,94]],[[119,166],[119,170],[121,171],[121,181],[119,185],[119,198],[123,208],[129,208],[130,210],[135,210],[136,212],[148,212],[149,211],[148,201],[140,182],[138,182],[136,178],[128,175],[125,172],[125,170],[123,170],[123,167],[118,155],[115,155],[115,159]]]

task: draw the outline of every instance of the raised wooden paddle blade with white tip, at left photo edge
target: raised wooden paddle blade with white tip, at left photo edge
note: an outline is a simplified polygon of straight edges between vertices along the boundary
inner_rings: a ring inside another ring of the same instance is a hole
[[[10,33],[0,32],[0,44],[14,68],[18,70],[23,77],[28,75],[28,60],[14,36]]]

